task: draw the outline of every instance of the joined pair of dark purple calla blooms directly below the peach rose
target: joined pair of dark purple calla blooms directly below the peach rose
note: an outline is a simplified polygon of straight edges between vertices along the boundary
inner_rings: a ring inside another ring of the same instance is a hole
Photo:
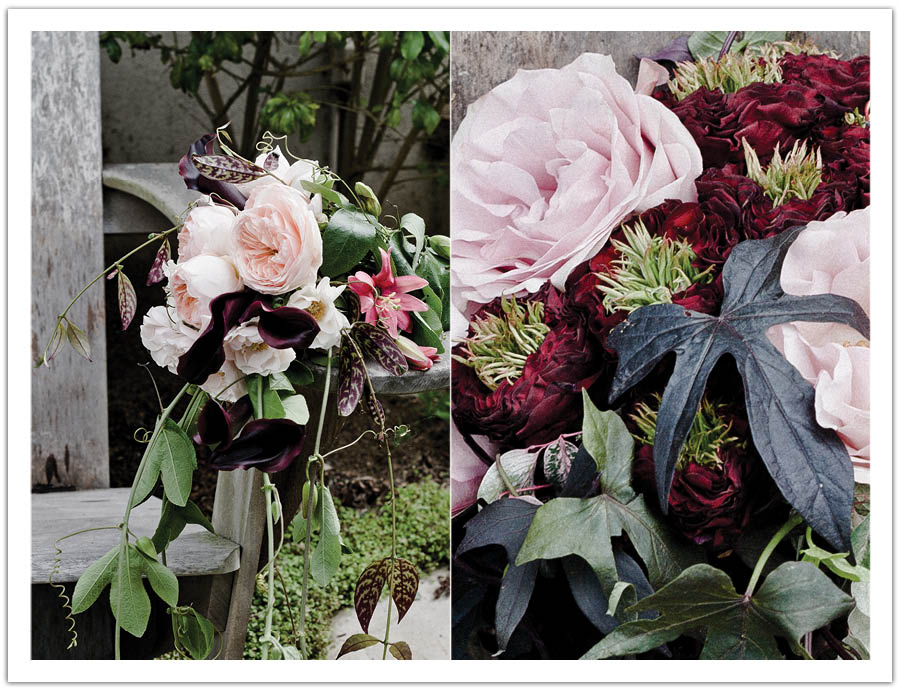
[[[251,290],[224,293],[209,303],[212,315],[206,330],[178,360],[178,375],[192,384],[202,384],[225,362],[222,342],[234,327],[259,317],[260,338],[272,348],[304,350],[319,333],[319,325],[306,310],[296,307],[272,308]]]

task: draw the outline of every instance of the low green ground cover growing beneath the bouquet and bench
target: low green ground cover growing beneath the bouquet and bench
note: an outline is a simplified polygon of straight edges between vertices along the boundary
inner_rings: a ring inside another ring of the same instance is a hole
[[[428,480],[406,485],[397,490],[397,555],[412,561],[420,576],[450,559],[450,493],[438,483]],[[390,556],[390,507],[378,506],[358,512],[337,506],[344,542],[353,550],[341,558],[338,574],[325,587],[310,579],[307,603],[307,640],[310,657],[321,659],[328,649],[331,619],[344,608],[353,606],[353,590],[362,570],[377,559]],[[284,579],[288,598],[299,626],[300,589],[303,581],[303,545],[288,543],[278,557],[278,571]],[[284,593],[276,579],[273,633],[285,645],[293,643],[290,615]],[[250,612],[250,625],[244,658],[260,658],[259,640],[265,619],[265,590],[257,588]],[[410,616],[415,616],[412,610]]]

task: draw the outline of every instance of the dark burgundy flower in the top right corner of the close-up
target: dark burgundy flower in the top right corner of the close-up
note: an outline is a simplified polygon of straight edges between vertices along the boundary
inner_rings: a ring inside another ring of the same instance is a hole
[[[827,55],[785,55],[779,62],[783,81],[802,84],[848,110],[869,101],[869,56],[838,60]]]

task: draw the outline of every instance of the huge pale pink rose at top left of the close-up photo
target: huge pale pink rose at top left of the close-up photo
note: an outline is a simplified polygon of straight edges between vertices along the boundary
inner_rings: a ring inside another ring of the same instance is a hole
[[[626,217],[695,201],[700,150],[678,118],[636,92],[612,58],[520,70],[469,106],[451,146],[454,301],[558,289]]]

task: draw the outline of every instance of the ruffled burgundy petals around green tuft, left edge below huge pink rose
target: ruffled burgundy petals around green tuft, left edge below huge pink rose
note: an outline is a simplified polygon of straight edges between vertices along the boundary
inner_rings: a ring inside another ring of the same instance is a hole
[[[502,448],[543,444],[581,424],[581,389],[600,372],[602,357],[581,309],[549,283],[531,300],[544,302],[551,331],[528,356],[521,376],[490,391],[475,370],[453,362],[453,419],[465,434],[484,434]],[[500,300],[477,316],[499,314]],[[457,346],[458,353],[460,346]]]

